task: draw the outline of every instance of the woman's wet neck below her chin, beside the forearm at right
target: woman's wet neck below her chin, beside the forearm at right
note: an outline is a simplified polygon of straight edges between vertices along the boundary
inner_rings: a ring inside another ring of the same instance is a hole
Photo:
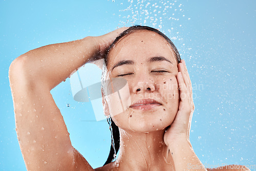
[[[172,170],[174,163],[163,141],[164,130],[150,133],[119,131],[120,153],[116,161],[119,167]]]

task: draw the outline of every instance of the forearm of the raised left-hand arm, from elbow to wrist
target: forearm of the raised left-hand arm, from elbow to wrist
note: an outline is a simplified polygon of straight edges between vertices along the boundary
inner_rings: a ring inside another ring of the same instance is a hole
[[[32,82],[40,80],[51,90],[97,53],[94,38],[86,37],[31,50],[14,62],[22,63],[21,69],[27,75],[26,79]]]

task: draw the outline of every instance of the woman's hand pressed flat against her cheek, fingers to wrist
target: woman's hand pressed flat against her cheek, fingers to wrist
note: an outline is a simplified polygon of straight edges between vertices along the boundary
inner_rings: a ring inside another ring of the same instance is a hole
[[[167,146],[179,141],[189,141],[190,124],[195,109],[191,81],[184,60],[179,63],[178,71],[179,110],[173,123],[164,134],[164,142]]]

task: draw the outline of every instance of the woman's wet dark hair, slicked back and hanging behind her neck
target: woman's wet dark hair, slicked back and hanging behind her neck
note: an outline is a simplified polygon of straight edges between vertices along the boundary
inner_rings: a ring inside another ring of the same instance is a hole
[[[172,42],[172,40],[170,40],[165,34],[163,34],[162,32],[160,32],[157,29],[154,29],[152,27],[147,27],[147,26],[136,25],[136,26],[129,27],[129,29],[123,31],[113,41],[113,43],[111,44],[111,46],[108,49],[105,59],[104,59],[106,66],[108,66],[108,54],[111,51],[111,49],[114,48],[114,46],[119,42],[119,40],[121,40],[121,38],[123,38],[124,36],[127,36],[131,33],[134,33],[138,30],[148,30],[148,31],[153,31],[153,32],[160,34],[169,43],[169,45],[173,48],[175,57],[177,59],[177,63],[180,63],[180,60],[181,60],[180,54],[179,54],[177,48],[175,47],[174,43]],[[115,122],[112,120],[111,117],[108,119],[108,123],[110,125],[110,131],[111,131],[111,147],[110,147],[109,157],[106,160],[104,165],[111,163],[115,159],[116,154],[120,147],[120,134],[119,134],[118,126],[115,124]]]

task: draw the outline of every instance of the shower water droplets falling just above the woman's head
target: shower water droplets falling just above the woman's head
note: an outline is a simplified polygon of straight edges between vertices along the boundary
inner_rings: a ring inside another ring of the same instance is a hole
[[[190,47],[186,47],[183,37],[183,23],[190,22],[186,16],[183,4],[180,1],[154,1],[154,0],[127,0],[122,3],[113,3],[116,10],[112,11],[119,20],[118,27],[131,25],[150,26],[160,29],[171,40],[176,40],[180,55],[188,53]]]

